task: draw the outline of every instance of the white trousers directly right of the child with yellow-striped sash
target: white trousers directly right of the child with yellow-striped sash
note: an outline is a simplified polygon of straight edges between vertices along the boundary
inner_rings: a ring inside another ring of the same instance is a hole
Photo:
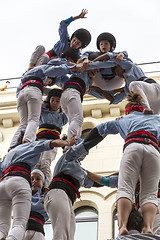
[[[83,124],[83,109],[79,91],[74,88],[67,88],[62,93],[60,102],[69,122],[67,137],[70,138],[75,134],[79,138]]]

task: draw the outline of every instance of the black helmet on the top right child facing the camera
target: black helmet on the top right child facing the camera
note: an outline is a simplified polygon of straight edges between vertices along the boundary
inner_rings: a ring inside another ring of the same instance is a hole
[[[110,52],[113,52],[116,48],[116,39],[115,37],[108,32],[101,33],[97,38],[97,48],[100,50],[100,41],[107,40],[111,44]]]

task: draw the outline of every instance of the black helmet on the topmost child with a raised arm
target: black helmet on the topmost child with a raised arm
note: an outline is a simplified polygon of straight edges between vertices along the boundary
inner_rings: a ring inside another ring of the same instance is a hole
[[[87,47],[87,45],[91,41],[91,34],[88,30],[84,28],[77,29],[71,36],[71,40],[73,37],[77,37],[79,41],[82,42],[81,48]]]

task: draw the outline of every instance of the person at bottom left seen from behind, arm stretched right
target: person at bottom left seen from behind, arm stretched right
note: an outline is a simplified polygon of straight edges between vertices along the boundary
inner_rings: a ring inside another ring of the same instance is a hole
[[[67,141],[60,139],[33,141],[20,144],[7,153],[0,164],[2,175],[0,181],[0,239],[22,240],[24,237],[31,208],[31,170],[38,163],[41,152],[75,143],[74,138]],[[9,232],[12,212],[13,224]]]

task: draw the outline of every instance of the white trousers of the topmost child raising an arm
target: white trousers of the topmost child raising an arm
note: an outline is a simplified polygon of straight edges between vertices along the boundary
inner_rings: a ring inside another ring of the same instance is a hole
[[[49,56],[45,53],[45,48],[42,45],[36,47],[32,53],[30,63],[35,64],[35,66],[40,66],[46,64],[49,61]]]

